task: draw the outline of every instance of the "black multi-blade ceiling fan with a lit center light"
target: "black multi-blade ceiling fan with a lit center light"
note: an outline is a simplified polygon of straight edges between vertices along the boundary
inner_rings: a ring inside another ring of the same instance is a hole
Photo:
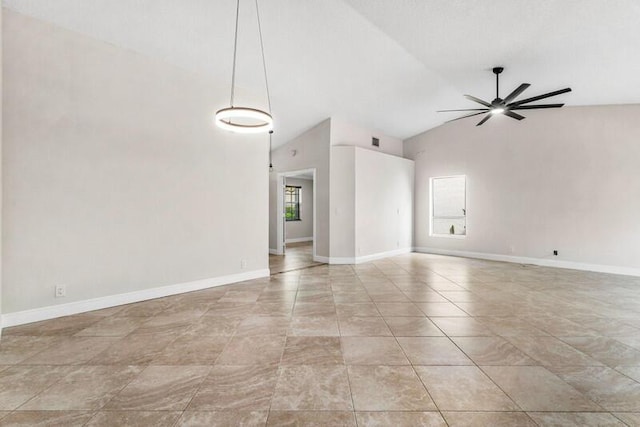
[[[522,92],[524,92],[529,86],[529,83],[522,83],[518,86],[513,92],[507,95],[506,98],[502,99],[499,95],[500,88],[500,73],[504,71],[503,67],[494,67],[493,74],[496,75],[496,99],[491,102],[483,101],[482,99],[476,98],[475,96],[465,95],[464,97],[477,102],[478,104],[484,105],[485,108],[466,108],[463,110],[439,110],[438,113],[445,113],[451,111],[475,111],[474,113],[467,114],[466,116],[458,117],[452,120],[447,120],[448,122],[453,122],[455,120],[466,119],[467,117],[478,116],[480,114],[487,114],[485,118],[480,120],[476,126],[480,126],[484,124],[487,120],[491,118],[491,116],[496,114],[504,114],[505,116],[511,117],[512,119],[522,120],[525,117],[520,114],[514,112],[515,110],[535,110],[538,108],[560,108],[564,104],[537,104],[537,105],[524,105],[530,102],[539,101],[541,99],[550,98],[552,96],[560,95],[563,93],[571,92],[571,88],[565,88],[556,90],[553,92],[545,93],[544,95],[538,95],[531,98],[523,99],[521,101],[514,101]]]

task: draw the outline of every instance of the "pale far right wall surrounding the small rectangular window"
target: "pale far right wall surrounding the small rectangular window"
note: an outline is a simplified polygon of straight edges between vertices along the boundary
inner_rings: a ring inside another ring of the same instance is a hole
[[[640,105],[526,116],[461,120],[405,141],[416,161],[415,246],[640,274]],[[430,237],[429,177],[459,174],[467,237]]]

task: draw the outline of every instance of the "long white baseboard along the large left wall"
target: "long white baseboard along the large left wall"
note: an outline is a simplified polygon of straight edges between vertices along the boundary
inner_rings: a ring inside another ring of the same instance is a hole
[[[178,283],[176,285],[160,286],[157,288],[143,289],[128,292],[126,294],[109,295],[83,301],[75,301],[67,304],[51,305],[48,307],[34,308],[31,310],[16,311],[2,315],[2,327],[23,325],[25,323],[39,322],[41,320],[56,317],[70,316],[72,314],[85,313],[87,311],[100,310],[117,305],[131,304],[154,298],[182,294],[185,292],[199,291],[215,286],[228,285],[230,283],[245,280],[268,277],[269,269],[248,271],[246,273],[231,274],[228,276],[213,277],[211,279],[195,280],[192,282]]]

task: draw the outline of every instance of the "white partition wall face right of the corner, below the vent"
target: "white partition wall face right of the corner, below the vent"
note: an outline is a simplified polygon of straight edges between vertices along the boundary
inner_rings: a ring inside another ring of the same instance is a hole
[[[414,162],[355,149],[356,257],[410,252]]]

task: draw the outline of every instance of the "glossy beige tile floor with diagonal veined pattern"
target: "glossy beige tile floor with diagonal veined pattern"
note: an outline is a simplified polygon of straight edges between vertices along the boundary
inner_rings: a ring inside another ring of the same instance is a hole
[[[639,382],[639,278],[409,254],[6,329],[0,425],[638,425]]]

